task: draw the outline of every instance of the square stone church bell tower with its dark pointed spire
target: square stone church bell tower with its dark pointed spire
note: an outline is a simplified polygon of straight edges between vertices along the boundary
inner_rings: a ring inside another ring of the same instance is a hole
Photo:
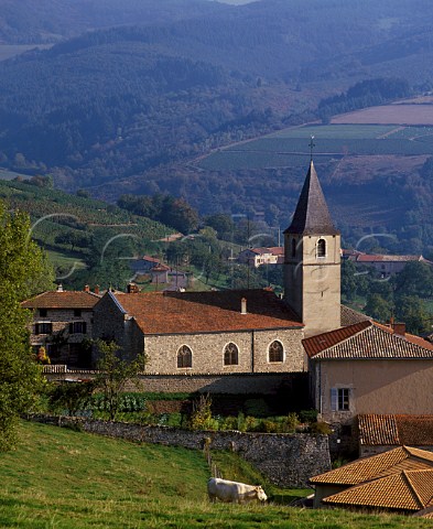
[[[292,224],[284,231],[284,300],[305,324],[305,336],[342,326],[340,235],[313,160]]]

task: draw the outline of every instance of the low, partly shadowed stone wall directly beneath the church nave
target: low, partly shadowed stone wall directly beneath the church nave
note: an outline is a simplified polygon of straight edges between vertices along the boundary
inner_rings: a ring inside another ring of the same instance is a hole
[[[44,368],[44,376],[53,381],[88,380],[96,371],[67,369],[66,366],[48,366]],[[282,387],[286,393],[302,392],[307,387],[305,373],[268,373],[268,374],[217,374],[217,375],[140,375],[138,386],[128,385],[126,391],[149,391],[164,393],[262,393],[274,395]],[[293,391],[292,391],[293,388]],[[295,398],[295,395],[293,395]]]

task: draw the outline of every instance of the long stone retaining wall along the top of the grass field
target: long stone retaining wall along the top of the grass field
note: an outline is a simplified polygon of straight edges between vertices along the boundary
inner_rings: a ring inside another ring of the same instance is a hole
[[[307,487],[310,477],[331,469],[327,435],[193,432],[169,427],[47,415],[31,415],[29,419],[56,425],[80,424],[86,432],[136,442],[195,450],[208,445],[210,454],[213,450],[230,450],[280,487]]]

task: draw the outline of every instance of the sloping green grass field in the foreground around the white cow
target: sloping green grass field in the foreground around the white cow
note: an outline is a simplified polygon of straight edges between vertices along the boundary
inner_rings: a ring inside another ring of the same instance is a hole
[[[232,455],[226,477],[249,478]],[[234,474],[236,471],[236,474]],[[230,474],[230,472],[232,474]],[[69,528],[424,528],[421,519],[267,505],[209,504],[198,451],[134,444],[23,423],[18,450],[1,454],[0,527]],[[269,493],[269,489],[267,489]],[[278,490],[273,492],[278,497]],[[288,493],[288,492],[286,492]],[[290,494],[305,494],[292,490]]]

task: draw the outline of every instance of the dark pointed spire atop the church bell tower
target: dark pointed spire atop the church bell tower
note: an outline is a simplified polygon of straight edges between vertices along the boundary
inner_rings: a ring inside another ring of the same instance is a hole
[[[313,160],[310,162],[292,224],[284,233],[300,235],[336,235],[339,233],[331,218]]]

